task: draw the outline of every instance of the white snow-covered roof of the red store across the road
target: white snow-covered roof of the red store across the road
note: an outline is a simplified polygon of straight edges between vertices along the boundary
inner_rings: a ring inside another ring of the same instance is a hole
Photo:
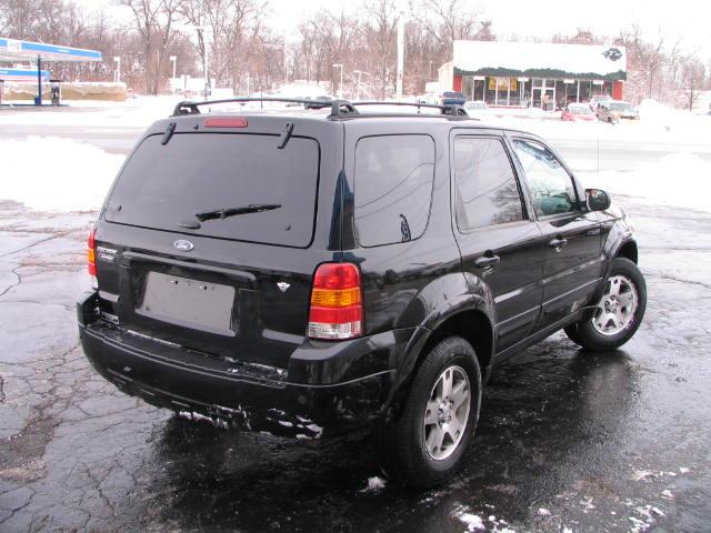
[[[454,41],[454,74],[625,80],[627,51],[618,46]]]

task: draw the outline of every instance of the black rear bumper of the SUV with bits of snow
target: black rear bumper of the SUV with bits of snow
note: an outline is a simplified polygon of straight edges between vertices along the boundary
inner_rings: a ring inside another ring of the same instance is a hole
[[[414,330],[327,346],[304,343],[286,371],[228,362],[127,332],[98,319],[94,301],[87,294],[78,303],[81,344],[94,369],[121,391],[157,406],[296,438],[346,433],[378,421],[392,402],[395,368]],[[350,376],[337,383],[309,380],[328,381],[344,364],[357,375],[340,372]]]

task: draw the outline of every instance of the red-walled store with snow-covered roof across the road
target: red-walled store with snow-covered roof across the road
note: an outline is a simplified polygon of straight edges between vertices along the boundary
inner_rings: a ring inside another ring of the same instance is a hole
[[[497,107],[562,108],[595,94],[622,99],[624,47],[454,41],[439,69],[440,90]]]

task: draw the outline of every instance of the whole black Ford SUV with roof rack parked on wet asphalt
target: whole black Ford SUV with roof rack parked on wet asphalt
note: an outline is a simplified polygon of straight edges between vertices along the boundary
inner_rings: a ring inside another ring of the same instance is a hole
[[[199,111],[218,103],[148,129],[89,237],[81,343],[121,391],[251,431],[370,430],[429,486],[494,364],[638,329],[627,217],[540,138],[457,105]]]

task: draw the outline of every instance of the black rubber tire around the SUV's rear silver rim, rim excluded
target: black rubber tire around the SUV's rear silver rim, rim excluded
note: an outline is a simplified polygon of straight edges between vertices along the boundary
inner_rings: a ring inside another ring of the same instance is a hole
[[[449,368],[464,370],[470,385],[469,416],[461,438],[445,459],[435,460],[424,445],[424,414],[440,375]],[[460,336],[439,341],[417,369],[397,418],[379,429],[377,446],[383,469],[397,481],[431,487],[448,481],[461,464],[474,433],[481,406],[481,371],[474,349]]]

